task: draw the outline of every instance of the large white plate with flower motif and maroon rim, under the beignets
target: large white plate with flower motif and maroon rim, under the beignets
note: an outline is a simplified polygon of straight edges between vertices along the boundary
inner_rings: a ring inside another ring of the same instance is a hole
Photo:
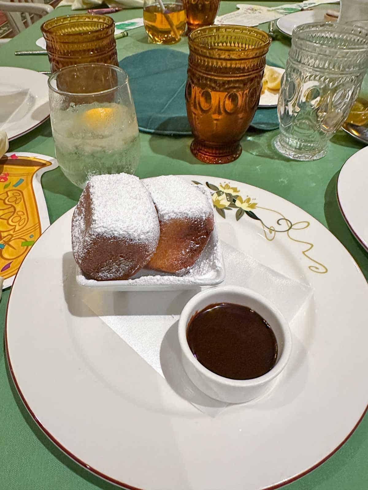
[[[15,279],[5,325],[10,371],[49,438],[117,485],[275,488],[333,454],[366,411],[368,285],[342,244],[285,199],[227,179],[184,178],[240,195],[244,213],[215,213],[220,239],[313,289],[290,323],[293,349],[276,387],[215,417],[181,398],[83,302],[72,210],[39,238]],[[137,315],[139,308],[148,315],[150,304],[154,315],[180,313],[184,299],[160,312],[167,293],[138,294]]]

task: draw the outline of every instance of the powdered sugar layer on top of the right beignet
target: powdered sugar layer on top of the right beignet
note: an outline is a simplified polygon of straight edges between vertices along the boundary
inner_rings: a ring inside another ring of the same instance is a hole
[[[159,221],[172,219],[205,220],[213,215],[212,204],[197,188],[176,175],[161,175],[142,180],[156,205]],[[169,192],[168,192],[169,191]],[[175,202],[170,196],[175,195]]]

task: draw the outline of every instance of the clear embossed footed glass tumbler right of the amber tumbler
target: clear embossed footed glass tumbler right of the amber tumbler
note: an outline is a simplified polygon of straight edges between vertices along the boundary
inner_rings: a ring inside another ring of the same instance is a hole
[[[368,68],[368,32],[338,23],[292,33],[277,107],[274,147],[294,160],[317,160],[342,126]]]

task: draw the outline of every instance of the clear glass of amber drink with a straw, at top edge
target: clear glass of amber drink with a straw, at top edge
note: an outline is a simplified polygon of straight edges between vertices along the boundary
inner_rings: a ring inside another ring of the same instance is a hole
[[[157,44],[175,44],[185,30],[185,0],[144,0],[143,22],[148,39]]]

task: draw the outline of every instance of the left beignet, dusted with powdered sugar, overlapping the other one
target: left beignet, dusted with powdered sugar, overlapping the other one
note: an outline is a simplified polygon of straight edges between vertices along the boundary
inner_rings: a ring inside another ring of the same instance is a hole
[[[156,251],[155,205],[138,177],[126,173],[91,177],[72,219],[72,248],[88,279],[128,279]]]

